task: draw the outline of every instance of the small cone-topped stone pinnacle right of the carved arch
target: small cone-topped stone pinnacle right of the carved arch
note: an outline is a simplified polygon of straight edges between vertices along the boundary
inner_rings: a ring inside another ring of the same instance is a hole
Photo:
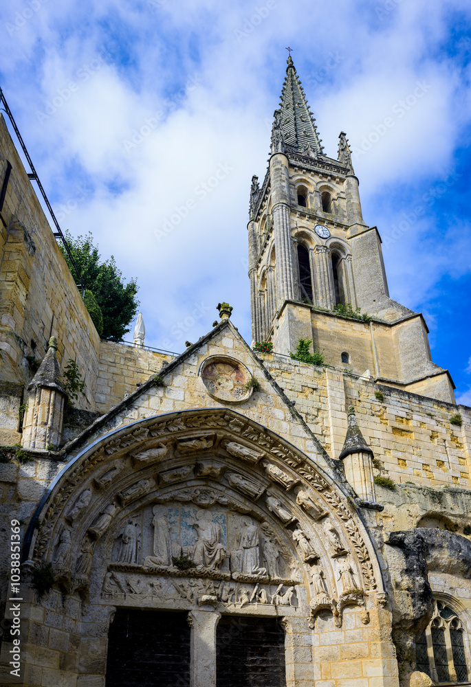
[[[344,462],[345,477],[355,489],[360,499],[375,502],[375,482],[373,480],[373,451],[366,444],[358,427],[353,406],[348,409],[348,429],[339,458]]]

